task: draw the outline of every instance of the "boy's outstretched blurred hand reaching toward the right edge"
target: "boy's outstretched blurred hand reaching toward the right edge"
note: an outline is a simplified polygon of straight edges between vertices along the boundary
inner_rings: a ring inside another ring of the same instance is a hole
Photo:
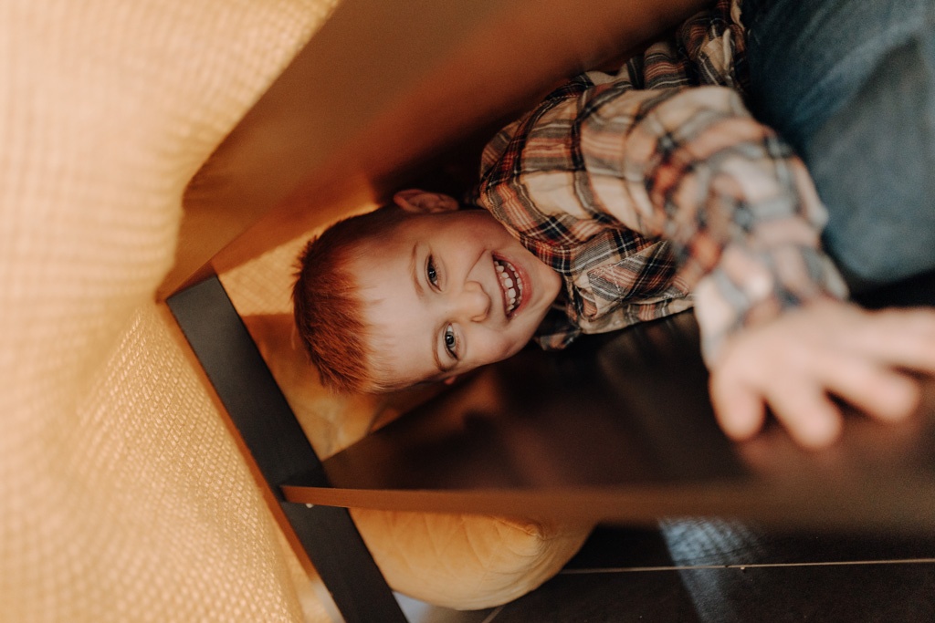
[[[730,338],[711,365],[712,403],[735,440],[762,428],[769,404],[800,445],[821,447],[841,433],[829,394],[872,418],[909,417],[920,389],[905,371],[935,374],[935,310],[868,312],[827,300]]]

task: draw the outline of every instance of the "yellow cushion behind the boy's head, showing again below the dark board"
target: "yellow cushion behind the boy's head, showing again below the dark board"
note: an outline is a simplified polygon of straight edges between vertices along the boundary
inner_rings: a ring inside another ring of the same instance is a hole
[[[324,459],[439,389],[378,398],[336,396],[321,387],[295,343],[290,312],[291,267],[307,238],[299,236],[221,279]],[[352,517],[391,587],[457,609],[509,602],[538,587],[581,548],[593,528],[533,518],[365,509],[352,509]]]

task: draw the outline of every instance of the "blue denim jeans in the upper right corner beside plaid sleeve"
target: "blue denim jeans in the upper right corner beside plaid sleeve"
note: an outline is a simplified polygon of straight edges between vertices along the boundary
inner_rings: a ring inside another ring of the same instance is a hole
[[[935,0],[744,0],[751,108],[809,170],[853,290],[935,270]]]

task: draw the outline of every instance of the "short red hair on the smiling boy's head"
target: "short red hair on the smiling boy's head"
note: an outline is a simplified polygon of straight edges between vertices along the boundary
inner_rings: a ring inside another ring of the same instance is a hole
[[[370,328],[360,287],[348,266],[392,234],[407,213],[395,205],[339,220],[309,240],[298,256],[293,288],[295,326],[324,387],[350,393],[400,389],[374,374]]]

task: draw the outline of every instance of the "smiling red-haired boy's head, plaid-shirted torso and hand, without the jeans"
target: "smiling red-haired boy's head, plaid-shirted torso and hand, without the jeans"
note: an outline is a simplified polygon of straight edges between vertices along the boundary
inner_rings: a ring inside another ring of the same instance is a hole
[[[786,143],[746,110],[738,3],[687,21],[616,75],[589,73],[501,131],[481,183],[403,191],[309,244],[295,317],[326,385],[396,389],[563,347],[695,305],[722,428],[765,406],[805,446],[836,395],[907,417],[935,373],[935,313],[843,302],[826,211]]]

